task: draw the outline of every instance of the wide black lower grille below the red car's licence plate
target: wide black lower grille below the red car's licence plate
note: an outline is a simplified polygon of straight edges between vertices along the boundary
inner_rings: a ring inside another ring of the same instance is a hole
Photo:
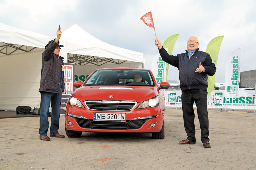
[[[139,129],[148,119],[126,120],[125,122],[93,121],[76,118],[78,125],[88,129],[127,130]]]

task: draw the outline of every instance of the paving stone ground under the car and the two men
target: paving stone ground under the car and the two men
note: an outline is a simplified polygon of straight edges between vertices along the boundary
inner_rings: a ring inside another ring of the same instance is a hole
[[[197,116],[197,143],[178,144],[186,139],[182,110],[171,107],[165,110],[163,140],[150,133],[83,132],[80,138],[42,141],[39,117],[0,119],[0,169],[256,169],[256,113],[208,113],[211,148],[202,146]],[[59,133],[66,135],[64,116]]]

